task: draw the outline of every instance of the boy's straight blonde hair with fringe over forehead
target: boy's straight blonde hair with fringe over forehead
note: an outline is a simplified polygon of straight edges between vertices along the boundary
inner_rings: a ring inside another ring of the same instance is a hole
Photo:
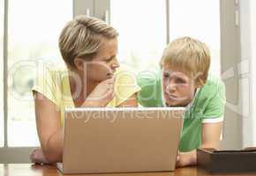
[[[210,51],[205,43],[190,37],[183,37],[173,40],[165,48],[161,66],[181,70],[192,77],[196,84],[205,84],[210,62]]]

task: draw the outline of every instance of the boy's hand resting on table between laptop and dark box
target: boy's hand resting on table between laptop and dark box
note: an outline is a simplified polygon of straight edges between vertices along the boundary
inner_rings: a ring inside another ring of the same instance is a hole
[[[196,150],[190,152],[178,152],[176,167],[196,165]]]

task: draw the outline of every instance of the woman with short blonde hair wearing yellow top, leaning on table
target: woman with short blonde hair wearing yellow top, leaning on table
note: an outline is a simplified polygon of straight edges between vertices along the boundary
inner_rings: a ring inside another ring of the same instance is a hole
[[[41,143],[30,156],[34,163],[62,161],[64,108],[138,106],[136,78],[117,62],[117,35],[86,16],[64,26],[59,48],[66,67],[43,67],[33,88]]]

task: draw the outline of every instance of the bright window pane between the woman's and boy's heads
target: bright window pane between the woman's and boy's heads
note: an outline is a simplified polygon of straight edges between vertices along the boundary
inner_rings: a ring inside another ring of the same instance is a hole
[[[159,67],[166,45],[165,3],[166,0],[110,1],[111,25],[119,33],[120,62],[135,70]]]

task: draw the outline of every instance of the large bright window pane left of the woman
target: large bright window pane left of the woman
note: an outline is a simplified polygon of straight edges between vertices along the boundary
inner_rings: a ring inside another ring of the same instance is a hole
[[[61,61],[58,36],[71,19],[72,0],[9,0],[8,146],[39,145],[30,91],[35,62]]]

